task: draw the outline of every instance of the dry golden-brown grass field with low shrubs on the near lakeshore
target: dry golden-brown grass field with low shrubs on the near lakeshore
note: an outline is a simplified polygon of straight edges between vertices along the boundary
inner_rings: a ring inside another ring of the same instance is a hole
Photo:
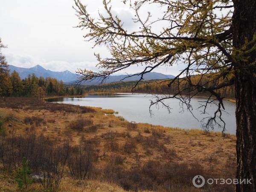
[[[0,120],[4,125],[0,136],[2,141],[12,137],[22,137],[26,141],[33,135],[54,145],[68,141],[74,147],[70,150],[72,157],[76,157],[75,147],[82,146],[86,151],[87,155],[83,156],[86,161],[90,154],[90,171],[86,177],[72,174],[76,158],[68,159],[55,191],[234,190],[233,185],[214,184],[197,189],[192,185],[192,178],[195,175],[234,178],[235,135],[223,137],[216,132],[133,123],[112,110],[47,103],[32,98],[0,99]],[[1,163],[0,160],[0,192],[21,190],[17,188],[13,166],[6,170]],[[53,189],[46,189],[35,180],[22,190]]]

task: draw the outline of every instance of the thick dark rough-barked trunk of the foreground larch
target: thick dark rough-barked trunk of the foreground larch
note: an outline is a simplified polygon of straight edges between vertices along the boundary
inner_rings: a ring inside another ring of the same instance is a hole
[[[256,35],[256,0],[233,0],[233,46],[241,49]],[[251,46],[247,46],[247,50]],[[236,53],[234,53],[236,54]],[[256,192],[256,51],[236,66],[236,178],[252,184],[236,185],[236,192]]]

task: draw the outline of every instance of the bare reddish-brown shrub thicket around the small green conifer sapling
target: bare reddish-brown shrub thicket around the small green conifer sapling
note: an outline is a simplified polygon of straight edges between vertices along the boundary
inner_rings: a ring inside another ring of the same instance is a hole
[[[0,137],[0,164],[5,170],[15,169],[19,186],[29,183],[29,180],[24,183],[27,178],[24,173],[29,173],[27,167],[31,167],[45,189],[56,190],[63,176],[68,153],[68,143],[57,145],[44,136],[29,134],[25,137]],[[23,157],[26,157],[26,161]]]

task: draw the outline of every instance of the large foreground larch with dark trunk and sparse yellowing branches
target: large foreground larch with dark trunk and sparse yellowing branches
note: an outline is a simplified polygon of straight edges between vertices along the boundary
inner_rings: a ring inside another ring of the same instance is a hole
[[[161,104],[171,110],[165,100],[176,98],[183,109],[192,112],[191,99],[198,93],[209,93],[201,111],[206,113],[211,104],[217,110],[202,125],[206,130],[221,126],[223,132],[224,96],[218,90],[235,85],[236,177],[251,179],[253,183],[239,183],[236,191],[256,191],[256,1],[124,0],[124,3],[129,3],[134,11],[134,22],[140,25],[137,30],[126,29],[106,0],[103,0],[105,13],[99,12],[99,17],[92,17],[87,7],[75,0],[78,27],[86,30],[85,40],[93,41],[95,46],[106,45],[111,53],[108,58],[96,54],[99,72],[78,70],[81,75],[78,83],[92,79],[104,82],[111,74],[134,65],[143,68],[132,75],[140,76],[141,81],[157,67],[183,64],[183,70],[174,79],[166,80],[169,87],[177,87],[177,93],[158,95],[151,106]],[[158,6],[160,11],[148,12],[147,17],[141,15],[143,7],[148,5]],[[153,14],[157,17],[152,17]],[[157,23],[163,25],[159,30],[154,27]],[[208,81],[202,82],[200,78],[194,81],[194,75]],[[212,82],[215,85],[209,86]]]

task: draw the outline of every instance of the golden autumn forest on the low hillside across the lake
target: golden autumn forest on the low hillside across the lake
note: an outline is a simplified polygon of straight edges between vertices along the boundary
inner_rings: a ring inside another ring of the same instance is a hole
[[[206,83],[209,81],[209,77],[196,75],[193,76],[191,79],[192,81],[200,81],[201,84]],[[167,79],[166,79],[167,80]],[[134,93],[155,93],[155,94],[174,94],[177,93],[178,86],[177,84],[173,84],[171,87],[168,87],[169,81],[166,80],[148,80],[148,81],[140,81],[139,84],[133,89]],[[219,81],[218,84],[226,81],[226,79],[223,79],[222,81]],[[132,88],[135,86],[137,81],[119,81],[119,82],[113,82],[109,84],[100,84],[100,85],[91,85],[86,86],[84,88],[84,91],[95,93],[95,92],[111,92],[111,93],[131,93]],[[207,83],[207,86],[214,86],[216,85],[216,81],[209,81]],[[179,88],[183,89],[186,87],[186,83],[180,83]],[[235,91],[234,86],[224,87],[217,91],[221,94],[221,96],[233,99],[235,98]],[[198,94],[197,96],[209,96],[209,93],[202,92]]]

